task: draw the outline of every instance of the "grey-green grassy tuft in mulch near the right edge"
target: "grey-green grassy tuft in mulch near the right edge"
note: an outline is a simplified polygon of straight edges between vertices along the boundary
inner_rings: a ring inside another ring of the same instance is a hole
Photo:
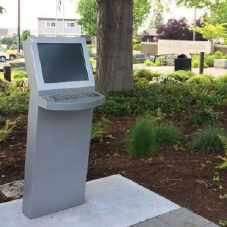
[[[220,138],[222,131],[214,127],[208,127],[196,132],[192,138],[192,150],[203,153],[224,153],[224,144]]]

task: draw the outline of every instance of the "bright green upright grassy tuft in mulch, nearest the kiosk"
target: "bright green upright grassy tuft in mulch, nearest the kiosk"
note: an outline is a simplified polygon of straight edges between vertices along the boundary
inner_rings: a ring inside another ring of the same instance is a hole
[[[156,151],[153,122],[140,119],[131,129],[128,138],[128,152],[133,156],[144,157]]]

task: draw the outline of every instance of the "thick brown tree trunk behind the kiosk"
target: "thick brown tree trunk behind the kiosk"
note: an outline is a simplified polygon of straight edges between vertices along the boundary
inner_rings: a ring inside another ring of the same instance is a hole
[[[97,0],[97,89],[133,88],[133,0]]]

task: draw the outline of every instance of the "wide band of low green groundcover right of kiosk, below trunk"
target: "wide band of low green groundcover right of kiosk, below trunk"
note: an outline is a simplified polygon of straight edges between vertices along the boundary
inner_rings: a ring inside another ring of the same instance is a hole
[[[111,116],[138,116],[146,112],[170,114],[214,108],[227,103],[227,84],[150,83],[135,77],[134,89],[110,92],[97,113]],[[1,105],[1,103],[0,103]],[[1,108],[0,108],[1,109]]]

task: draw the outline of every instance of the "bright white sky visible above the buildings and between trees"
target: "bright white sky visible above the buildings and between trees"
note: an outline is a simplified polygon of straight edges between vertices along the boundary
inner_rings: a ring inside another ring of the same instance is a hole
[[[73,0],[63,1],[65,2],[65,18],[75,17],[75,3],[73,3]],[[6,12],[0,15],[0,28],[17,27],[17,2],[17,0],[0,0],[0,5],[6,9]],[[166,19],[186,17],[189,21],[192,21],[193,12],[193,9],[176,8],[172,4],[170,13],[166,14],[165,17]],[[21,0],[22,30],[36,31],[38,17],[55,17],[55,15],[56,0]]]

